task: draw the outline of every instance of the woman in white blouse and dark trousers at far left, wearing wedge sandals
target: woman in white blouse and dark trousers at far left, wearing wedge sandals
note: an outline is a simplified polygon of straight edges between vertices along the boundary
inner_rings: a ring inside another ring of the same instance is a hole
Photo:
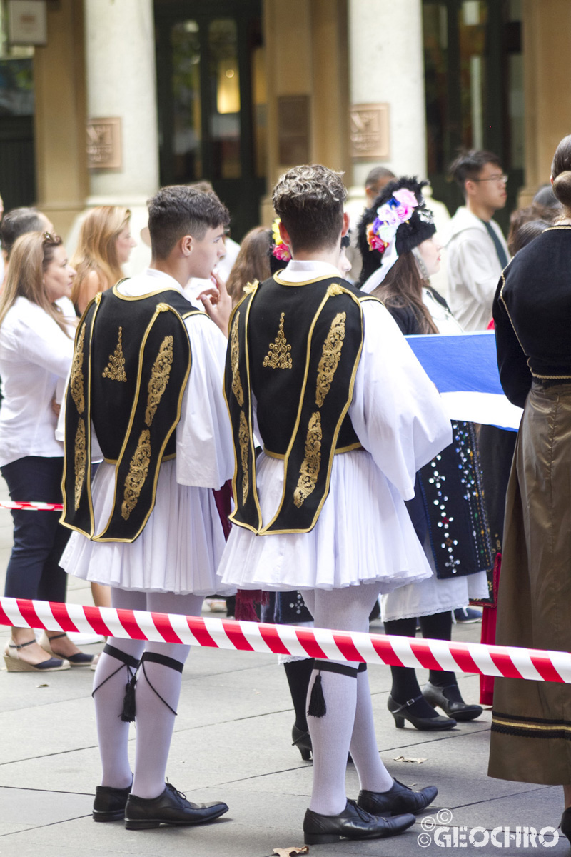
[[[54,435],[54,402],[71,366],[74,327],[56,302],[69,297],[74,273],[60,237],[30,232],[16,241],[0,297],[0,469],[12,500],[62,499],[63,448]],[[65,601],[67,576],[58,562],[68,532],[58,524],[59,512],[13,511],[12,517],[14,548],[4,595]],[[13,627],[6,668],[46,671],[92,663],[93,656],[65,634],[47,632],[44,644],[36,643],[31,628]]]

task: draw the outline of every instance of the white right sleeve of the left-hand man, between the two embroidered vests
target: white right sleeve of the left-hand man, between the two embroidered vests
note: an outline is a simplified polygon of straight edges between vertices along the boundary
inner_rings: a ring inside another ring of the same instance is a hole
[[[204,315],[186,320],[192,369],[176,427],[176,481],[221,488],[234,474],[234,446],[223,397],[227,339]]]

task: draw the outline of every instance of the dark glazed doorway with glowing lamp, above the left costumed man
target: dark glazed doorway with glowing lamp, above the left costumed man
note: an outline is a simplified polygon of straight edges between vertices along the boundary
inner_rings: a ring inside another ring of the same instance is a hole
[[[208,179],[232,237],[265,193],[261,0],[155,0],[161,183]]]

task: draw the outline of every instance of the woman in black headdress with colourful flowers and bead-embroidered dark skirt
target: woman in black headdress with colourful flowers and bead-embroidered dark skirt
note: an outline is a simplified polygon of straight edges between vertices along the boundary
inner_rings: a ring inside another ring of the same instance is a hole
[[[360,287],[383,301],[405,335],[462,333],[448,304],[430,286],[442,247],[422,195],[424,185],[416,178],[395,179],[364,213]],[[449,640],[451,611],[465,607],[470,598],[488,596],[486,572],[493,563],[473,424],[453,420],[452,436],[453,443],[419,470],[414,498],[407,502],[433,575],[382,597],[388,634],[414,637],[418,620],[423,637]],[[449,729],[482,713],[479,705],[461,698],[452,671],[431,669],[422,691],[413,668],[390,671],[388,707],[396,728],[407,720],[417,729]]]

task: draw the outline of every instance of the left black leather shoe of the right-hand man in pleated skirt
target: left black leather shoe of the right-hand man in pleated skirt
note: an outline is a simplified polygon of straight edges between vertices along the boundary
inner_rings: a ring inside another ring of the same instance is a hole
[[[347,806],[339,815],[322,815],[320,812],[306,811],[303,819],[303,832],[306,845],[324,845],[327,842],[339,842],[342,836],[347,839],[382,839],[384,836],[396,836],[407,830],[416,818],[413,815],[396,815],[394,818],[378,818],[357,806],[354,800],[348,800]]]

